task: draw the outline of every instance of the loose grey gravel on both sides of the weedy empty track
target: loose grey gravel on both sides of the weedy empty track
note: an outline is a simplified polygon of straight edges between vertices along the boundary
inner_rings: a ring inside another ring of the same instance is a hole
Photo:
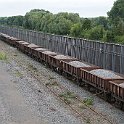
[[[54,95],[49,93],[46,87],[41,85],[30,75],[29,72],[31,69],[35,70],[36,74],[40,73],[42,76],[44,76],[44,79],[42,80],[43,82],[45,82],[46,79],[51,78],[69,89],[71,92],[74,92],[80,96],[82,99],[92,97],[94,99],[94,104],[92,107],[95,110],[110,118],[117,124],[124,124],[124,112],[121,110],[116,109],[102,99],[94,96],[88,91],[85,91],[81,87],[78,87],[76,84],[65,79],[63,76],[52,72],[42,64],[20,53],[16,50],[16,48],[12,48],[4,42],[0,42],[0,49],[2,49],[2,51],[6,51],[7,53],[10,64],[7,64],[6,68],[9,72],[11,72],[11,75],[14,76],[13,80],[15,81],[18,90],[23,94],[26,103],[31,106],[32,111],[34,111],[38,117],[44,118],[50,124],[84,123],[81,122],[80,119],[76,117],[75,114],[65,104],[59,101]],[[15,60],[25,64],[22,64],[21,67],[18,65],[18,63],[16,63]],[[93,124],[92,122],[90,123]]]

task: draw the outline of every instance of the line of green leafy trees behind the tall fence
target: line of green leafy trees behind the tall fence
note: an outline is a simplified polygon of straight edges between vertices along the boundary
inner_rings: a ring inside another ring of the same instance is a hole
[[[124,44],[124,0],[117,0],[108,17],[81,18],[78,13],[53,14],[33,9],[25,16],[1,17],[1,25],[17,26],[58,35]]]

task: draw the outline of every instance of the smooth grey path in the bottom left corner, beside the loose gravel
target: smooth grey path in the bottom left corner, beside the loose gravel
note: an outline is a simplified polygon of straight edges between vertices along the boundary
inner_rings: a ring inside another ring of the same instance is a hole
[[[46,124],[31,111],[18,91],[8,67],[0,61],[0,124]]]

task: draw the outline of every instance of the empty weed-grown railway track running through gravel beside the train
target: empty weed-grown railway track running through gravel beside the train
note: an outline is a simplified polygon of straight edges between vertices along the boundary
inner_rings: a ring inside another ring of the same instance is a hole
[[[23,67],[24,69],[28,69],[28,66],[27,68],[25,68],[23,66],[23,62],[15,59],[15,57],[12,57],[12,59],[14,61],[16,61],[16,63],[18,63],[19,66]],[[39,81],[40,83],[42,83],[42,85],[44,85],[48,90],[49,92],[51,92],[52,94],[54,94],[59,100],[61,100],[62,102],[64,102],[73,112],[74,114],[76,115],[76,117],[80,118],[81,120],[85,120],[86,123],[90,123],[90,121],[93,121],[93,119],[98,119],[98,124],[102,122],[100,122],[101,120],[103,120],[103,124],[105,122],[109,123],[109,124],[116,124],[116,122],[114,120],[111,120],[111,119],[108,119],[106,116],[104,116],[102,113],[99,113],[97,112],[95,109],[93,109],[92,107],[86,105],[83,100],[80,99],[79,96],[75,95],[76,97],[74,99],[72,99],[72,101],[76,101],[76,105],[73,105],[73,104],[69,104],[68,101],[65,101],[65,99],[63,97],[60,96],[61,93],[65,93],[65,92],[70,92],[66,87],[60,85],[60,84],[56,84],[56,87],[57,89],[59,90],[56,90],[56,88],[51,85],[49,85],[49,82],[48,83],[43,83],[42,82],[42,75],[40,73],[37,73],[34,71],[34,70],[30,70],[30,74],[32,77],[34,77],[37,81]],[[51,80],[50,80],[51,81]],[[39,91],[40,92],[40,91]],[[82,106],[84,107],[83,109],[81,109],[77,104],[77,103],[81,103]],[[85,112],[88,112],[89,115],[87,115]],[[93,117],[95,118],[92,118],[92,115]],[[96,124],[96,123],[95,123]]]

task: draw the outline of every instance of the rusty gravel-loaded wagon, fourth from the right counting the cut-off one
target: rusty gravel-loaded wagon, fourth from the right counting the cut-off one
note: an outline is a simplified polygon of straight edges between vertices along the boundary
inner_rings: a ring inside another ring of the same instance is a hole
[[[57,69],[59,72],[63,72],[63,62],[71,62],[76,61],[76,58],[71,56],[64,56],[64,55],[56,55],[50,58],[51,66],[53,69]]]

